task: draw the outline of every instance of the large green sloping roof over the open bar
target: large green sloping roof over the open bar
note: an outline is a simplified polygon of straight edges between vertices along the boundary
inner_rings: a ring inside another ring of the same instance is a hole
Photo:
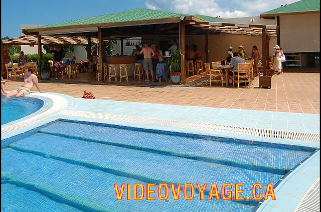
[[[49,27],[59,27],[59,26],[80,25],[80,24],[150,20],[150,19],[180,17],[181,15],[182,13],[164,12],[164,11],[147,9],[147,8],[135,8],[135,9],[129,9],[121,12],[114,12],[109,14],[93,16],[93,17],[70,20],[66,22],[42,25],[34,28],[49,28]],[[184,15],[187,16],[188,14],[184,14]]]

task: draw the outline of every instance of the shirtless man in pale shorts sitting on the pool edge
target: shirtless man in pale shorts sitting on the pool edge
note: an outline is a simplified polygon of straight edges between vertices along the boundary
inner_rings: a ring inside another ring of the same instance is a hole
[[[33,72],[33,68],[27,68],[24,84],[21,87],[18,87],[17,89],[14,89],[10,93],[6,94],[6,97],[21,97],[24,95],[28,95],[31,92],[31,89],[34,87],[34,85],[36,85],[39,92],[43,92],[39,87],[38,77]]]

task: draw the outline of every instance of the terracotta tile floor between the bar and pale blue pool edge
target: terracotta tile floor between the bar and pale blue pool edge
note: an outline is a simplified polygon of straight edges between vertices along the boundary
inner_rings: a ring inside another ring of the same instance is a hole
[[[96,98],[148,103],[319,113],[319,73],[283,73],[272,77],[271,89],[260,89],[258,77],[251,88],[204,84],[196,87],[143,87],[95,84],[40,83],[43,90],[81,97],[86,89]],[[8,81],[14,89],[22,81]],[[35,87],[33,90],[37,90]]]

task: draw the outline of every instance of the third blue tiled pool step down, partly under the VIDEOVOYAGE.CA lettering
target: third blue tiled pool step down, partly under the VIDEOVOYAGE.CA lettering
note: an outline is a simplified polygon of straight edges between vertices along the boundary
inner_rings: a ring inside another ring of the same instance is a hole
[[[11,148],[2,150],[2,180],[26,186],[84,211],[128,211],[128,208],[131,211],[179,211],[182,208],[189,211],[221,211],[223,208],[251,211],[254,208],[234,201],[201,201],[197,193],[193,200],[119,201],[115,197],[114,183],[143,182],[55,160],[49,155],[43,157]]]

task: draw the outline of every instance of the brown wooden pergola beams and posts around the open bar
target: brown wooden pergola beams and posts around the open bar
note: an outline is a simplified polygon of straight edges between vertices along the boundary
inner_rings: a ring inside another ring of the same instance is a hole
[[[87,46],[87,49],[90,49],[92,43],[98,43],[98,55],[103,55],[102,43],[104,40],[122,40],[129,37],[179,36],[180,51],[185,52],[185,35],[205,35],[206,62],[209,62],[209,34],[230,33],[256,35],[262,36],[262,70],[263,75],[266,76],[266,67],[268,65],[267,61],[269,55],[268,41],[271,36],[276,36],[277,26],[209,22],[193,15],[182,16],[138,21],[78,24],[23,29],[23,33],[25,33],[26,35],[3,40],[2,48],[4,45],[37,44],[38,53],[39,55],[41,55],[42,44],[85,45]],[[123,51],[123,46],[121,46],[121,51]],[[123,52],[121,52],[121,54],[123,54]],[[87,57],[90,58],[90,51],[87,51]],[[100,67],[103,67],[103,59],[100,59],[99,63]],[[185,58],[184,55],[181,54],[181,83],[185,83],[185,79]],[[102,80],[102,78],[100,78],[99,80]]]

